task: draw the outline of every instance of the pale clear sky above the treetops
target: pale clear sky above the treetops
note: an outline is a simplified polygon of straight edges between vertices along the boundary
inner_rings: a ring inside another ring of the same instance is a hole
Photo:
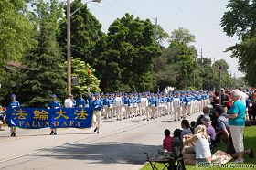
[[[189,29],[196,37],[194,45],[198,54],[202,49],[203,58],[225,59],[232,76],[241,77],[244,75],[238,70],[238,60],[230,58],[230,52],[224,52],[239,42],[238,37],[229,38],[219,27],[227,4],[228,0],[101,0],[101,3],[88,3],[88,7],[101,22],[103,32],[125,13],[148,18],[153,23],[157,17],[158,25],[169,35],[178,27]]]

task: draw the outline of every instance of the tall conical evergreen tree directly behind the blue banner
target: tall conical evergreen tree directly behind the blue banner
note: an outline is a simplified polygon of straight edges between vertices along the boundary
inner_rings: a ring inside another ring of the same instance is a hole
[[[38,46],[22,60],[26,69],[21,74],[19,89],[24,106],[46,107],[52,93],[60,99],[67,96],[64,70],[60,67],[63,58],[56,40],[61,9],[58,0],[40,0],[37,4]]]

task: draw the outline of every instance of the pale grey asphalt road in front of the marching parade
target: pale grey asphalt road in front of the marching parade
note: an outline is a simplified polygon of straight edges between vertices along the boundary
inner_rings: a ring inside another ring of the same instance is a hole
[[[199,113],[187,117],[195,121]],[[145,152],[157,154],[165,129],[181,128],[173,115],[143,121],[136,117],[123,121],[101,122],[101,133],[91,129],[16,130],[0,132],[0,169],[140,169],[146,160]]]

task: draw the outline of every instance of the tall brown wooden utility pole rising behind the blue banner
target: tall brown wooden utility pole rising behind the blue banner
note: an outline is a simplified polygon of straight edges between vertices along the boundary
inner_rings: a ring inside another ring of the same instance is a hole
[[[67,60],[68,60],[68,92],[71,94],[71,27],[70,0],[67,0]]]

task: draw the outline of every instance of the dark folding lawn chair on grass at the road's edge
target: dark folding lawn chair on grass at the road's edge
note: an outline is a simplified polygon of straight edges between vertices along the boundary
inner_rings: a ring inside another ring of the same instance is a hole
[[[159,170],[156,166],[157,163],[163,164],[164,169],[168,170],[186,170],[184,165],[182,151],[182,142],[179,137],[176,137],[173,142],[173,152],[167,152],[164,155],[147,155],[147,161],[150,163],[152,169]]]

